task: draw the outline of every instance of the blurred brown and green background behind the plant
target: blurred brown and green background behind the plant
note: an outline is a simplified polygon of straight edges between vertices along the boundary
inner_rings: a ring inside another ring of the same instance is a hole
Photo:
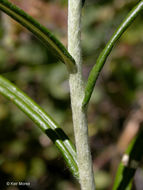
[[[67,0],[10,0],[67,46]],[[85,81],[136,0],[87,0],[82,13]],[[30,32],[0,12],[0,74],[39,103],[74,142],[68,73]],[[143,121],[143,13],[116,44],[88,109],[97,190],[112,189],[118,163]],[[142,163],[134,190],[143,189]],[[6,186],[8,181],[30,186]],[[0,95],[0,189],[79,190],[59,151],[30,119]]]

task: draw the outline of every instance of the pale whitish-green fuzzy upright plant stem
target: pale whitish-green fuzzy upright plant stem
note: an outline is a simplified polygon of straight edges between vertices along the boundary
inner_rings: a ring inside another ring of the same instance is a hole
[[[80,37],[81,9],[82,0],[69,0],[68,50],[77,64],[77,72],[70,74],[69,84],[71,91],[71,106],[77,149],[77,160],[79,167],[79,181],[82,190],[95,190],[91,153],[88,143],[86,110],[82,109],[82,101],[84,98],[84,85],[82,79],[82,56]]]

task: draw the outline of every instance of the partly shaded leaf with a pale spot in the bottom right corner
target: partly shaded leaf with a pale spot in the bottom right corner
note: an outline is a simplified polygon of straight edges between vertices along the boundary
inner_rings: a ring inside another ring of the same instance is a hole
[[[124,156],[126,161],[119,165],[113,190],[130,190],[135,171],[143,157],[143,128],[132,140]]]

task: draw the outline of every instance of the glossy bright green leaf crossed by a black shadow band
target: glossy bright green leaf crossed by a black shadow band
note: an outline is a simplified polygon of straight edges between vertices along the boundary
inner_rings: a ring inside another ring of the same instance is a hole
[[[19,107],[47,136],[62,153],[75,177],[78,166],[75,147],[58,124],[30,97],[0,75],[0,93]]]

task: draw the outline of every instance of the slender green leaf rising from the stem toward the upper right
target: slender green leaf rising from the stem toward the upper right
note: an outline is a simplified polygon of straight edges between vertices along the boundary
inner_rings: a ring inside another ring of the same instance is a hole
[[[83,100],[83,108],[86,107],[88,104],[91,94],[93,92],[94,86],[98,79],[98,76],[106,62],[107,57],[111,53],[111,50],[117,40],[121,37],[121,35],[126,31],[126,29],[132,24],[133,20],[138,16],[138,14],[143,9],[143,0],[140,1],[127,15],[125,20],[121,23],[121,25],[117,28],[103,51],[100,53],[96,64],[93,66],[92,70],[90,71],[88,81],[85,88],[85,97]]]

